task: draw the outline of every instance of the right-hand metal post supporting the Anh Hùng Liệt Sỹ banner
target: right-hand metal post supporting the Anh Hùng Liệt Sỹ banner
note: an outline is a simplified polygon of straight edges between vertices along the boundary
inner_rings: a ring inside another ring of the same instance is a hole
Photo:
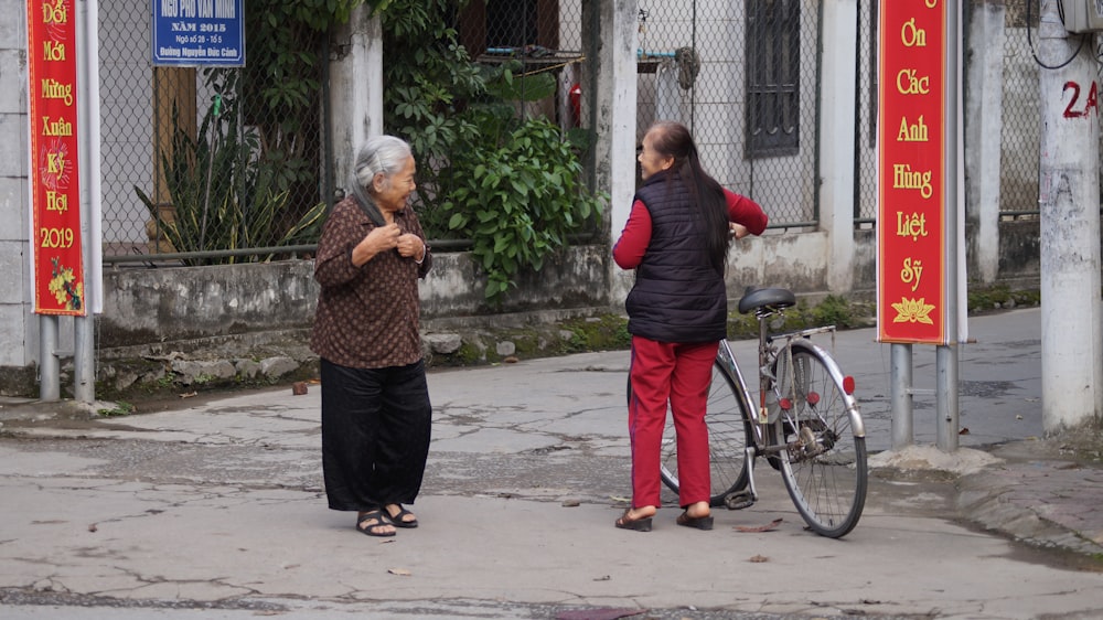
[[[942,192],[945,197],[943,226],[945,231],[945,330],[946,344],[938,346],[935,366],[938,374],[936,394],[938,432],[935,442],[943,452],[957,450],[959,398],[957,398],[957,31],[960,6],[947,3],[946,11],[946,67],[945,100],[945,168]]]

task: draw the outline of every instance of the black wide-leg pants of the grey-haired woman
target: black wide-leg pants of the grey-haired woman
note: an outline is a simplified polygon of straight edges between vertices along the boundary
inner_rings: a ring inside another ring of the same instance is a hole
[[[322,472],[333,510],[411,504],[429,455],[425,362],[350,368],[321,360]]]

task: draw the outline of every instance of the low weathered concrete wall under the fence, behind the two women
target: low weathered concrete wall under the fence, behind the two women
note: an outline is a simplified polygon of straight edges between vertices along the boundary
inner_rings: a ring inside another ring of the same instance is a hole
[[[797,292],[825,290],[826,234],[767,234],[736,244],[729,256],[728,289],[738,298],[747,286],[782,286]],[[433,255],[420,282],[426,331],[437,325],[493,327],[506,316],[620,312],[609,293],[609,248],[569,248],[540,272],[526,272],[500,304],[486,302],[485,279],[470,255]],[[310,328],[318,286],[313,263],[161,269],[116,269],[104,281],[98,318],[100,350],[224,339],[247,333]]]

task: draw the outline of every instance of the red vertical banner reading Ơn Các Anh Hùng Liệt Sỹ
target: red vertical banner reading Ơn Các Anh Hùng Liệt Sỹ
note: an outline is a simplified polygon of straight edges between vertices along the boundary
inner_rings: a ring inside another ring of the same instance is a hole
[[[944,0],[880,0],[878,340],[946,344]]]

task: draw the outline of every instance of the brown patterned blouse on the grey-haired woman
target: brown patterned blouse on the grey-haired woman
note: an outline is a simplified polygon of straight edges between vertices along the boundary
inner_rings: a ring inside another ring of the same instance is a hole
[[[396,212],[395,223],[403,234],[425,240],[413,209]],[[342,366],[405,366],[421,359],[417,280],[429,272],[432,256],[426,247],[418,265],[392,249],[356,267],[352,248],[373,228],[352,197],[335,205],[325,221],[314,258],[314,279],[322,290],[310,348]]]

